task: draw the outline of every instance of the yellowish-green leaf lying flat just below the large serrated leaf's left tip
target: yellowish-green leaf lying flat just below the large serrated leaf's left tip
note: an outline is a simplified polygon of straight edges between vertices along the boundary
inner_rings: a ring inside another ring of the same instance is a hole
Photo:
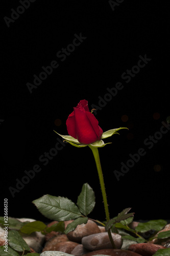
[[[42,231],[46,225],[42,221],[33,221],[21,227],[20,231],[25,234],[31,234],[35,231]]]

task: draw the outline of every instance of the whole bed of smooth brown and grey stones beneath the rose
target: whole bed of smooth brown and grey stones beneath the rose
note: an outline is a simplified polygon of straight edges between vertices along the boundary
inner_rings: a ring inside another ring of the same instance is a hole
[[[34,221],[32,219],[19,220]],[[65,221],[65,227],[71,222]],[[55,223],[57,222],[51,222],[48,224],[48,227]],[[137,224],[132,223],[131,225],[136,226]],[[170,230],[170,224],[166,225],[159,232],[168,230]],[[4,243],[3,237],[4,230],[0,227],[0,245]],[[158,240],[157,238],[149,243],[135,243],[131,241],[132,244],[125,246],[126,240],[123,241],[119,234],[112,233],[112,238],[116,245],[116,249],[113,249],[105,228],[98,226],[91,220],[88,220],[87,224],[78,225],[74,231],[68,234],[52,231],[44,236],[41,232],[34,232],[31,236],[22,234],[22,237],[33,249],[32,251],[41,251],[40,256],[152,256],[158,249],[170,247],[170,240]],[[156,244],[154,244],[155,242]]]

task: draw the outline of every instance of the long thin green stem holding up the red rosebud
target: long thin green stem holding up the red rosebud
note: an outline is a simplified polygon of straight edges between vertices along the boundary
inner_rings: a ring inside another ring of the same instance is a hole
[[[104,207],[105,207],[105,214],[106,214],[106,221],[110,220],[109,217],[109,208],[108,208],[108,203],[107,203],[107,196],[106,196],[106,189],[105,189],[105,183],[104,183],[104,179],[103,179],[103,173],[102,173],[102,167],[101,167],[101,161],[100,161],[100,157],[99,157],[99,151],[98,151],[98,147],[93,147],[91,145],[88,145],[93,153],[94,159],[95,159],[95,164],[96,167],[98,169],[98,175],[99,175],[99,180],[100,180],[100,185],[101,185],[101,190],[102,190],[102,196],[103,196],[103,203],[104,203]],[[110,239],[110,242],[113,246],[113,248],[115,249],[115,244],[111,235],[111,230],[108,230],[108,236]]]

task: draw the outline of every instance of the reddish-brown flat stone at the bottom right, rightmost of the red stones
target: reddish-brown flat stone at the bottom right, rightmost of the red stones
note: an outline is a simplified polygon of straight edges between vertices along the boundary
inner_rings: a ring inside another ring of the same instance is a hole
[[[159,249],[166,249],[166,247],[159,244],[151,244],[151,243],[139,243],[139,244],[132,244],[129,246],[129,250],[140,253],[143,256],[152,256]]]

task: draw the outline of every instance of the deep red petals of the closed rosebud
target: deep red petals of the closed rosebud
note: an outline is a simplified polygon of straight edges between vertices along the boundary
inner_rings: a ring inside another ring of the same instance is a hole
[[[68,134],[83,144],[101,139],[103,130],[98,123],[94,115],[89,112],[88,101],[85,99],[79,102],[66,121]]]

